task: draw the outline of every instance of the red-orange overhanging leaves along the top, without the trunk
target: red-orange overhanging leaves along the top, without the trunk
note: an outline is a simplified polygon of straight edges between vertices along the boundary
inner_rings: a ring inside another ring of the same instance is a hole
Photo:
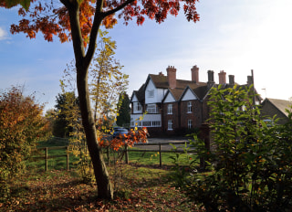
[[[69,5],[69,1],[61,0],[64,5]],[[196,22],[199,15],[196,12],[195,3],[192,1],[97,1],[97,0],[76,0],[74,4],[78,5],[79,10],[79,26],[86,46],[89,43],[89,35],[93,26],[93,16],[95,12],[103,19],[102,25],[111,28],[118,23],[117,17],[123,18],[124,23],[128,25],[133,17],[136,22],[141,25],[146,16],[155,19],[156,22],[162,23],[168,15],[177,16],[183,5],[183,12],[188,21]],[[60,5],[56,1],[36,1],[36,0],[1,0],[0,6],[10,8],[21,4],[19,8],[19,16],[23,19],[18,25],[11,26],[13,34],[24,32],[26,37],[36,38],[36,33],[41,31],[47,41],[53,41],[53,36],[57,36],[61,42],[71,40],[71,26],[68,10],[64,5]],[[120,14],[114,16],[120,10]]]

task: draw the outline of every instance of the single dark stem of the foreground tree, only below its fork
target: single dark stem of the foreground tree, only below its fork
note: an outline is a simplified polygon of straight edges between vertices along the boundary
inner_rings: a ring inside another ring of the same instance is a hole
[[[110,175],[103,160],[103,155],[99,143],[94,117],[90,107],[88,68],[77,71],[78,98],[82,124],[86,134],[86,141],[89,147],[89,154],[94,168],[94,175],[98,185],[98,196],[100,198],[112,199],[113,190],[110,184]]]

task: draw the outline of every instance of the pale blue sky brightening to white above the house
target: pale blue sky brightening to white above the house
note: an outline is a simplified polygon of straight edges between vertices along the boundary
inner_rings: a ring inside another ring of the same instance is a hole
[[[177,78],[190,80],[191,68],[200,68],[200,80],[214,70],[215,81],[224,70],[243,84],[254,69],[255,88],[262,97],[288,100],[291,92],[292,1],[201,0],[201,20],[188,22],[183,14],[170,16],[161,25],[146,20],[110,29],[117,42],[116,58],[130,75],[128,93],[138,90],[148,74],[168,66]],[[11,35],[9,26],[18,20],[16,9],[0,9],[0,90],[25,85],[36,91],[39,102],[54,107],[63,70],[73,58],[71,43],[44,41],[41,34],[30,40]],[[263,90],[266,89],[266,90]]]

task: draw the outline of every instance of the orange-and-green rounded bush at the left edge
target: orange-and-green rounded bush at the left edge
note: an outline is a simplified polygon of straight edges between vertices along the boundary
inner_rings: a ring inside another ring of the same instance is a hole
[[[0,94],[0,201],[9,195],[9,185],[25,168],[36,141],[46,135],[43,106],[19,87]]]

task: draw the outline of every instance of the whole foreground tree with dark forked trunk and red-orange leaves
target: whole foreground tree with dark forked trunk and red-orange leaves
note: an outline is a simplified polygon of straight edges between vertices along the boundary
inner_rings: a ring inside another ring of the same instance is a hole
[[[195,4],[198,0],[0,0],[0,6],[12,7],[21,4],[18,11],[23,19],[11,26],[13,34],[23,32],[35,38],[41,32],[47,41],[57,36],[61,42],[73,43],[77,87],[82,122],[86,133],[89,153],[98,184],[98,196],[112,198],[110,177],[103,161],[97,140],[95,120],[89,99],[89,65],[96,50],[99,27],[108,28],[123,18],[128,24],[133,17],[141,25],[146,16],[162,23],[168,15],[177,16],[181,6],[188,21],[196,22],[199,16]],[[119,14],[118,14],[119,13]]]

